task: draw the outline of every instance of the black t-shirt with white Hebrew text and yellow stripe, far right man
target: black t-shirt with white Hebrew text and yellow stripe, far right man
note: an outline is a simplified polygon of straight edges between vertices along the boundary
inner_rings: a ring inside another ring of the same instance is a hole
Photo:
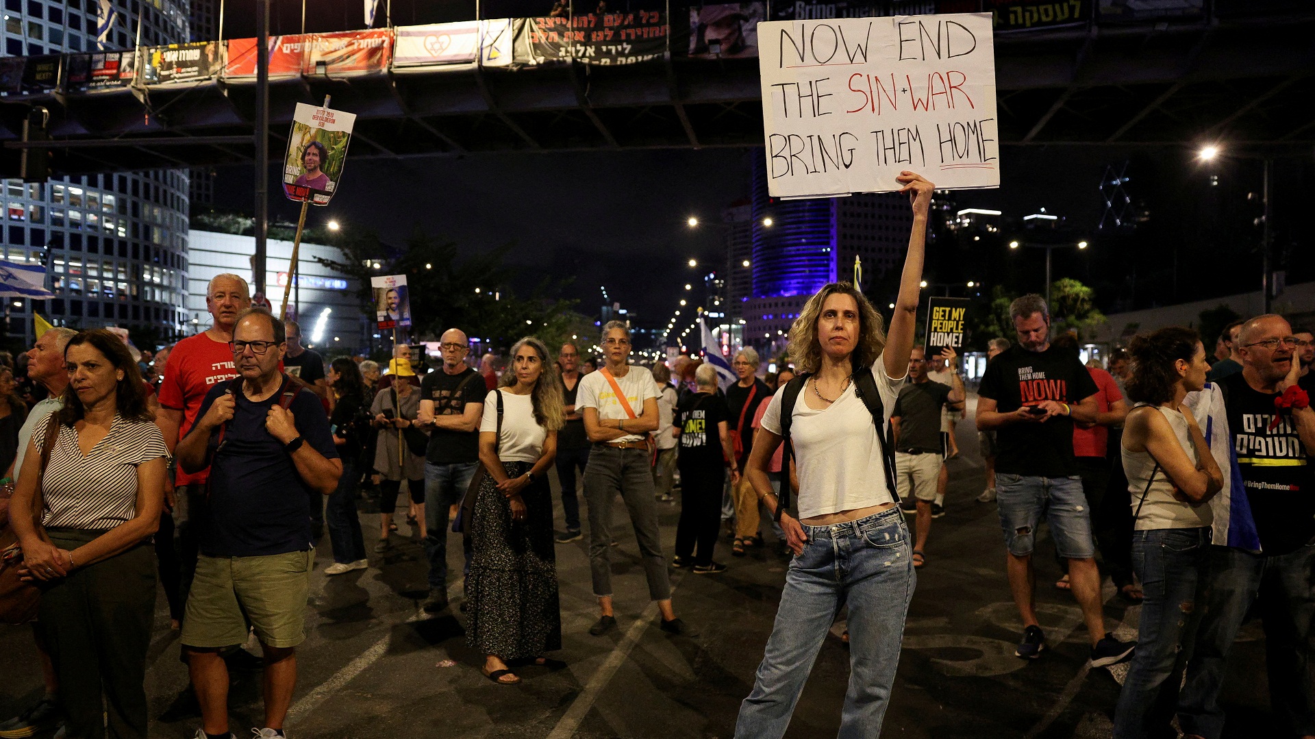
[[[1276,423],[1277,393],[1252,388],[1241,372],[1219,380],[1219,388],[1260,546],[1268,555],[1297,551],[1315,539],[1315,473],[1297,423],[1289,414]]]

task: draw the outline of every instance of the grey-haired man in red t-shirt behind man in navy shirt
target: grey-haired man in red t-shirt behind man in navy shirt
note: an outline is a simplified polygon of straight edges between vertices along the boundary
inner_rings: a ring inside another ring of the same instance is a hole
[[[205,393],[217,383],[237,377],[233,368],[233,325],[238,313],[251,306],[251,292],[246,280],[237,275],[217,275],[205,293],[205,309],[213,323],[204,333],[188,337],[174,346],[160,380],[160,410],[155,423],[164,434],[164,444],[172,454],[178,441],[196,422]],[[175,479],[174,518],[178,521],[179,559],[181,569],[180,592],[187,593],[196,573],[197,534],[204,515],[205,480],[209,469],[188,475],[181,469]]]

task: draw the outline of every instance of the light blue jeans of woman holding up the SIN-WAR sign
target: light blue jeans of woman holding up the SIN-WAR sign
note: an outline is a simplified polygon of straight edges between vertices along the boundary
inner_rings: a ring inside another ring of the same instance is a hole
[[[835,526],[805,526],[803,554],[790,560],[776,625],[740,705],[736,739],[785,734],[831,623],[849,606],[849,689],[839,739],[872,739],[890,700],[905,615],[917,576],[913,540],[898,508]]]

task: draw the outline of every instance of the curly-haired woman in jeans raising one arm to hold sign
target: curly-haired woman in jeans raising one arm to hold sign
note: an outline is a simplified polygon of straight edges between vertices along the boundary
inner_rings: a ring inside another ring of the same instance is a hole
[[[790,426],[800,518],[780,512],[794,558],[753,692],[740,706],[735,726],[740,739],[785,734],[842,605],[849,606],[851,673],[839,736],[872,739],[881,732],[915,576],[878,429],[853,380],[871,370],[885,409],[884,434],[909,371],[935,188],[910,171],[898,180],[914,221],[889,335],[868,298],[848,283],[828,284],[809,298],[790,327],[790,356],[801,376],[772,397],[750,455],[748,479],[777,515],[781,501],[772,493],[768,463],[781,443],[781,398],[802,380]]]

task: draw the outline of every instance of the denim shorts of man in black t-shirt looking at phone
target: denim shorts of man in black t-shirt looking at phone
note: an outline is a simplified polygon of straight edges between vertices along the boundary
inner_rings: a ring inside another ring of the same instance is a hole
[[[1044,517],[1055,538],[1055,550],[1065,559],[1091,559],[1090,505],[1082,477],[1035,477],[995,473],[995,504],[1009,554],[1027,556],[1036,542],[1036,525]]]

